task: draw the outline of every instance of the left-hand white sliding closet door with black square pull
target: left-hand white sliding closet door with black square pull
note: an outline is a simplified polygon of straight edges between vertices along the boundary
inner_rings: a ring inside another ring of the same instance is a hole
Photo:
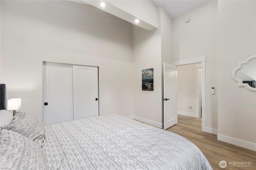
[[[43,63],[43,121],[73,120],[72,64]]]

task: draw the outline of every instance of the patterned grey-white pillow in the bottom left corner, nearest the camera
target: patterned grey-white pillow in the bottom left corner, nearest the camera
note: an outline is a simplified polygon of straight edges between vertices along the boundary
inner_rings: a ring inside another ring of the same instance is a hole
[[[0,169],[47,170],[46,156],[31,139],[7,129],[0,130]]]

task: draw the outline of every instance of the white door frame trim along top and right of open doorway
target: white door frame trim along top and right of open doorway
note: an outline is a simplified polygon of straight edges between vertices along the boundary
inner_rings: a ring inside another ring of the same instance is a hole
[[[174,61],[173,64],[176,66],[185,65],[185,64],[194,64],[194,63],[202,63],[202,131],[207,132],[206,126],[205,126],[205,120],[206,120],[206,56],[204,57],[198,57],[194,59],[187,59],[187,60],[180,60],[180,61]]]

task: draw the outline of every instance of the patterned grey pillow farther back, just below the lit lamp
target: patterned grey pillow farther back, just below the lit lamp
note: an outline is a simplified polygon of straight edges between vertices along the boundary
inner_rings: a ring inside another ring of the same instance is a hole
[[[2,126],[2,129],[20,133],[38,143],[40,147],[43,145],[45,135],[43,122],[26,112],[18,111],[11,123]]]

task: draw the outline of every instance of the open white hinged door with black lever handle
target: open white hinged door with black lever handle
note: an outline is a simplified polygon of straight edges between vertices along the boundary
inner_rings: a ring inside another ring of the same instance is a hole
[[[177,67],[164,63],[164,129],[177,124]]]

